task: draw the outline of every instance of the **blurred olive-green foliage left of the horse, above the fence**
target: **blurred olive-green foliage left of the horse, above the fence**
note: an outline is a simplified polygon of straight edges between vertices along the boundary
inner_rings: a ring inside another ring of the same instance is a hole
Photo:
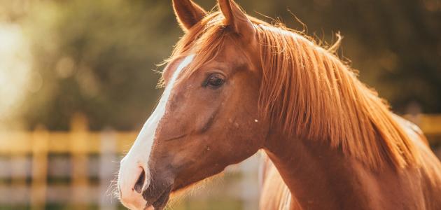
[[[181,33],[164,1],[50,1],[25,25],[43,78],[25,118],[52,130],[66,130],[76,112],[94,130],[141,125],[158,97],[152,69]]]

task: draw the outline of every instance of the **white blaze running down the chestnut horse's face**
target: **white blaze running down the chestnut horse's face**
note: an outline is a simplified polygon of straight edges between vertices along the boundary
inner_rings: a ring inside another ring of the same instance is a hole
[[[153,111],[150,118],[148,118],[142,127],[142,130],[139,132],[138,137],[134,141],[132,148],[130,148],[129,153],[127,153],[123,160],[121,160],[120,172],[118,175],[118,184],[121,188],[131,189],[134,187],[134,183],[137,181],[138,176],[140,175],[140,167],[142,167],[146,172],[144,189],[150,184],[151,174],[148,169],[148,158],[150,157],[153,140],[155,139],[156,129],[158,128],[158,124],[165,114],[165,108],[169,100],[170,92],[172,92],[176,79],[178,78],[182,69],[188,66],[194,57],[195,55],[189,55],[183,59],[183,62],[181,62],[176,71],[174,71],[169,84],[167,87],[165,87],[165,90],[162,93],[158,106],[156,106],[155,111]]]

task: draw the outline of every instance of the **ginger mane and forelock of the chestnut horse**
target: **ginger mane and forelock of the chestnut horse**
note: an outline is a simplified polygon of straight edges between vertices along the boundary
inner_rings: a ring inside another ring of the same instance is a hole
[[[214,59],[226,38],[235,37],[213,12],[176,44],[172,57],[196,52],[187,75]],[[418,162],[414,144],[377,92],[330,50],[283,25],[255,18],[262,85],[259,107],[273,125],[302,139],[328,141],[373,169]]]

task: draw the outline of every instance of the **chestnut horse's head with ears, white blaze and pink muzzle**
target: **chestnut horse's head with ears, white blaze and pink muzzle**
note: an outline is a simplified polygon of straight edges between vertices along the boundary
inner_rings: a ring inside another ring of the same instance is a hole
[[[207,13],[174,1],[186,31],[163,72],[165,90],[118,177],[130,209],[162,209],[169,194],[222,172],[262,148],[261,67],[255,27],[230,0]]]

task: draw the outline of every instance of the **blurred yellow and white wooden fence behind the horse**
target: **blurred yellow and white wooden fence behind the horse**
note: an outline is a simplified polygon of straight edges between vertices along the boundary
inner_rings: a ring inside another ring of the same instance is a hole
[[[441,115],[405,117],[421,127],[430,144],[441,145]],[[41,126],[32,132],[0,132],[0,207],[5,203],[23,203],[32,209],[45,209],[48,202],[71,202],[77,207],[95,203],[101,209],[116,208],[117,202],[108,196],[109,185],[119,159],[136,137],[137,132],[91,132],[81,115],[72,119],[69,132],[50,132]],[[53,162],[53,155],[66,155],[69,160]],[[256,162],[257,159],[239,167],[246,176],[242,178],[242,186],[250,186],[256,179]],[[63,173],[69,174],[68,184],[50,183],[50,176]],[[91,180],[92,175],[97,181]],[[257,189],[232,190],[232,194],[237,191],[243,191],[239,197],[246,200],[245,209],[256,208]],[[251,194],[246,194],[250,191]]]

